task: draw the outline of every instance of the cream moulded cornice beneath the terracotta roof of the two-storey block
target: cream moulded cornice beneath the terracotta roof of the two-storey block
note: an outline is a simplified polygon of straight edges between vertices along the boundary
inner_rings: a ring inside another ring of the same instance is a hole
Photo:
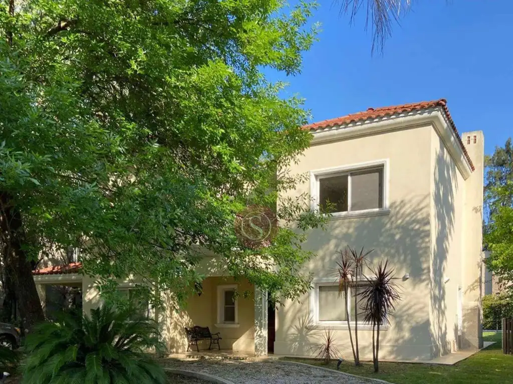
[[[455,159],[456,165],[463,178],[470,177],[472,169],[465,157],[463,148],[451,129],[449,121],[440,106],[436,108],[413,111],[404,114],[382,117],[373,120],[357,121],[312,132],[312,145],[329,141],[351,139],[356,137],[375,135],[384,132],[413,129],[419,126],[431,125],[442,138],[447,150]]]

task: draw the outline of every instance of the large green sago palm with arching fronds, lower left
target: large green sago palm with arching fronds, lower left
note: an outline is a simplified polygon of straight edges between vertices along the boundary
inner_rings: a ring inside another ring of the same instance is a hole
[[[165,373],[146,352],[161,349],[155,324],[129,321],[132,309],[104,305],[91,317],[63,314],[26,339],[24,384],[164,384]]]

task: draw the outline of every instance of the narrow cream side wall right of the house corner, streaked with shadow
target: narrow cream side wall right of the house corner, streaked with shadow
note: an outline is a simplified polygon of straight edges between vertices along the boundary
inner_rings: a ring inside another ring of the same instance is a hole
[[[458,349],[465,180],[442,139],[431,131],[431,256],[429,319],[432,355]]]

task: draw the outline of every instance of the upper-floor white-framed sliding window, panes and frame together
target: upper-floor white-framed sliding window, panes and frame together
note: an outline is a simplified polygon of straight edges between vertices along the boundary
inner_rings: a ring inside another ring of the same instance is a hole
[[[388,160],[312,170],[312,209],[333,217],[386,212],[388,185]]]

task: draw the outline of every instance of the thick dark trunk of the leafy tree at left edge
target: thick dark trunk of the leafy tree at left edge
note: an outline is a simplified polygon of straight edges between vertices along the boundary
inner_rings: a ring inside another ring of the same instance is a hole
[[[23,327],[30,330],[36,323],[43,321],[45,316],[32,277],[31,263],[22,249],[25,240],[22,217],[19,210],[11,205],[8,193],[0,195],[0,202],[5,273],[12,284]]]

